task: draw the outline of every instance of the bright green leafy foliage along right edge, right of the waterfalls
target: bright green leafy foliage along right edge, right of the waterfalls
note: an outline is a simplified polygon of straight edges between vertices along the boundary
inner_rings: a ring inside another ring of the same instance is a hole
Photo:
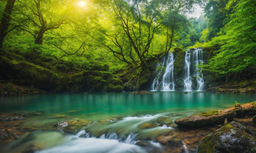
[[[256,17],[255,3],[240,1],[230,15],[230,22],[214,37],[209,45],[221,45],[209,60],[207,69],[218,74],[241,73],[256,70]]]

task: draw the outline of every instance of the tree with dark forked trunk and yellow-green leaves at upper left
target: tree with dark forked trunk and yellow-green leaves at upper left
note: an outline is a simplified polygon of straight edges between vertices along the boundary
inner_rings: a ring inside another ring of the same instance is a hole
[[[35,27],[32,27],[31,31],[30,28],[28,28],[30,25],[26,24],[23,30],[33,35],[35,37],[35,44],[39,45],[43,44],[43,35],[45,32],[59,28],[68,20],[67,10],[64,10],[64,14],[60,15],[55,12],[55,8],[53,8],[55,5],[57,5],[57,3],[59,3],[59,5],[63,5],[63,3],[60,4],[60,2],[55,1],[51,1],[50,3],[48,1],[48,3],[45,2],[46,4],[44,4],[42,7],[41,1],[42,0],[33,0],[33,3],[30,1],[18,1],[21,5],[21,8],[27,8],[25,10],[19,8],[19,12]]]

